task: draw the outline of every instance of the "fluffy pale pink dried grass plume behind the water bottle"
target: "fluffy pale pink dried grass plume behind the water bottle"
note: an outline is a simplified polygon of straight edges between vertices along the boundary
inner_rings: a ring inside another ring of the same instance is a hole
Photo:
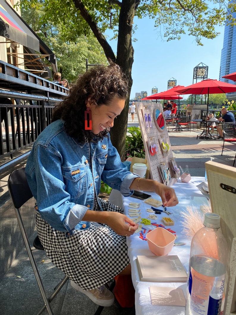
[[[211,212],[211,203],[207,200],[206,204],[200,206],[200,211],[196,207],[186,207],[186,211],[180,212],[183,216],[183,221],[180,221],[183,225],[183,233],[192,239],[194,234],[200,230],[204,225],[204,215],[207,212]]]

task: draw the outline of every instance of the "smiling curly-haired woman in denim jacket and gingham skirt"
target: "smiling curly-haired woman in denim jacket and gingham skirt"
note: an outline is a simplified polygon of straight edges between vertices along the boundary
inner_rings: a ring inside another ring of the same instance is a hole
[[[46,254],[74,289],[101,306],[114,301],[104,284],[131,274],[126,236],[138,228],[122,208],[98,198],[101,180],[123,196],[140,188],[158,193],[166,206],[178,202],[172,188],[127,171],[111,144],[109,130],[126,95],[119,66],[87,71],[55,107],[26,164]]]

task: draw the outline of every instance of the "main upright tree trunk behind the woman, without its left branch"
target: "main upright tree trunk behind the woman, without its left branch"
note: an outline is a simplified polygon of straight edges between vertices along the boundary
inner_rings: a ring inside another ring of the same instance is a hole
[[[121,161],[124,161],[125,159],[125,140],[128,123],[129,99],[133,83],[131,76],[134,54],[132,46],[132,26],[133,18],[139,3],[139,0],[122,0],[119,17],[116,63],[121,67],[128,78],[129,93],[127,95],[125,108],[121,112],[121,115],[119,115],[115,120],[114,126],[110,131],[110,135],[111,142],[119,152]]]

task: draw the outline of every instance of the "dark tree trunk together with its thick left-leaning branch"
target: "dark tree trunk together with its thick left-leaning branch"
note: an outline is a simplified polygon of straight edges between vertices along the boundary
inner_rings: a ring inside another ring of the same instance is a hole
[[[111,141],[113,146],[117,149],[120,154],[121,161],[125,159],[125,140],[126,140],[126,131],[128,123],[128,109],[129,109],[129,99],[130,91],[132,87],[132,64],[133,64],[133,54],[134,49],[132,46],[132,26],[133,18],[135,12],[138,8],[140,0],[122,0],[119,2],[121,6],[120,16],[119,16],[119,30],[118,30],[118,41],[117,41],[117,57],[115,59],[115,54],[112,51],[110,45],[106,41],[103,34],[98,29],[98,26],[93,21],[89,12],[83,5],[81,0],[73,0],[77,9],[80,10],[81,16],[86,20],[91,30],[93,31],[95,37],[98,39],[98,42],[101,44],[104,53],[107,59],[115,61],[126,74],[128,78],[129,92],[127,95],[125,108],[121,112],[121,115],[117,117],[114,121],[114,126],[110,131]],[[112,3],[112,0],[111,0]]]

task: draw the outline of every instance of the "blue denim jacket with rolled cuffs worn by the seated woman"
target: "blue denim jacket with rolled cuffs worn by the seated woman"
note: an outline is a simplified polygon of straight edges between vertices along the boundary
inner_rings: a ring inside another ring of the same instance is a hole
[[[66,134],[60,119],[38,136],[25,173],[42,219],[67,236],[90,227],[90,222],[81,220],[87,209],[93,210],[101,179],[130,196],[129,186],[138,176],[127,171],[110,135],[81,144]]]

